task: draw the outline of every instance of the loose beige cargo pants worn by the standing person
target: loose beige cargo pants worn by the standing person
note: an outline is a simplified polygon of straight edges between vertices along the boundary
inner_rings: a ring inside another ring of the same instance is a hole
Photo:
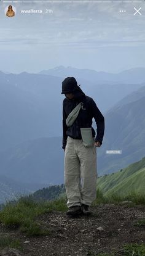
[[[67,206],[90,206],[96,199],[96,146],[87,148],[82,139],[72,139],[68,136],[64,178]]]

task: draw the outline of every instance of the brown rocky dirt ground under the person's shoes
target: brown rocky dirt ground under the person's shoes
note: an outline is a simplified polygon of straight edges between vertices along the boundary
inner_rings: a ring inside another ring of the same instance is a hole
[[[87,256],[100,252],[123,255],[122,246],[128,243],[145,243],[145,226],[135,226],[145,218],[145,207],[127,205],[98,205],[90,207],[93,214],[77,218],[53,212],[36,218],[43,228],[50,229],[48,236],[26,237],[18,229],[2,230],[20,239],[23,253],[16,249],[0,250],[0,256]],[[101,228],[100,228],[101,227]]]

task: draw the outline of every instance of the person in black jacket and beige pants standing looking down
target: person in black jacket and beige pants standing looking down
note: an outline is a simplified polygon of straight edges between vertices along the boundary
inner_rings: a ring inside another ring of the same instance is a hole
[[[100,147],[103,141],[104,117],[74,77],[65,78],[61,94],[66,96],[63,100],[62,146],[65,150],[64,178],[69,208],[66,215],[90,215],[89,207],[96,199],[96,147]],[[72,112],[75,108],[76,114]],[[70,115],[74,118],[71,125],[68,122]],[[92,118],[95,118],[97,134],[92,127]],[[92,144],[87,144],[88,137],[92,139]]]

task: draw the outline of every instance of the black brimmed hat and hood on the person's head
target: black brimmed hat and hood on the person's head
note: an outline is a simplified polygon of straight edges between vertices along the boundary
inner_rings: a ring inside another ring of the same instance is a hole
[[[84,96],[85,93],[77,85],[77,81],[74,77],[66,77],[62,82],[62,92],[61,94],[73,93],[74,98]]]

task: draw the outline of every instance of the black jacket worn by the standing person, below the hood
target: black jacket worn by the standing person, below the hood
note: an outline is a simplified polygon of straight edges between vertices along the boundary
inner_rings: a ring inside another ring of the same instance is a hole
[[[79,111],[79,115],[76,120],[72,124],[71,127],[66,125],[66,118],[69,113],[76,107],[79,102],[83,102],[84,105]],[[92,118],[95,118],[96,122],[96,133],[92,127]],[[92,127],[92,136],[95,137],[95,141],[99,141],[102,144],[103,136],[104,136],[104,117],[101,114],[100,110],[96,106],[95,101],[93,101],[92,97],[86,96],[81,89],[77,91],[74,99],[68,99],[65,97],[63,100],[63,146],[66,147],[66,139],[70,136],[73,139],[82,139],[80,134],[80,128]]]

